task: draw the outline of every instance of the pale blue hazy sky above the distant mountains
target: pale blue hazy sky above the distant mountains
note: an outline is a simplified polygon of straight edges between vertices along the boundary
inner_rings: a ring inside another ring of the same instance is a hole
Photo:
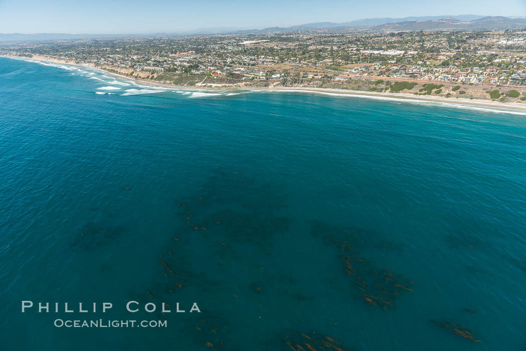
[[[370,17],[526,16],[526,0],[0,0],[0,33],[156,33]]]

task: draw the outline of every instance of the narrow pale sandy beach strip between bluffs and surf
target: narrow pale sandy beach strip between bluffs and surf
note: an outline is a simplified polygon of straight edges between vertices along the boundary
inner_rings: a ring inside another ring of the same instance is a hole
[[[338,96],[352,96],[352,97],[370,97],[370,98],[380,98],[383,100],[389,101],[400,101],[400,102],[435,102],[438,104],[451,104],[451,105],[463,105],[463,106],[476,106],[476,107],[485,107],[498,110],[515,110],[515,111],[524,111],[526,112],[526,104],[520,105],[516,102],[498,102],[498,101],[487,101],[482,99],[462,99],[462,98],[446,98],[446,97],[428,97],[428,96],[418,96],[413,94],[408,94],[404,92],[375,92],[375,91],[363,91],[363,90],[348,90],[348,89],[337,89],[337,88],[312,88],[312,87],[221,87],[221,88],[201,88],[201,87],[188,87],[188,86],[177,86],[173,84],[163,84],[158,82],[152,82],[149,80],[135,79],[133,77],[128,77],[118,73],[110,72],[108,70],[98,68],[89,64],[72,64],[68,63],[66,60],[50,60],[34,57],[25,57],[25,56],[1,56],[11,59],[28,59],[43,61],[55,64],[64,64],[76,67],[83,67],[88,69],[93,69],[104,73],[110,76],[114,76],[120,79],[133,81],[136,83],[148,85],[151,87],[161,87],[168,89],[184,89],[184,90],[204,90],[204,91],[244,91],[244,90],[267,90],[267,91],[283,91],[283,92],[310,92],[317,94],[325,95],[338,95]]]

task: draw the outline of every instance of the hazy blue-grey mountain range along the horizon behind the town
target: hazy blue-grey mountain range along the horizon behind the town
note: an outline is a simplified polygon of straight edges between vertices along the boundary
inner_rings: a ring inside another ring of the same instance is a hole
[[[201,28],[184,33],[154,33],[154,34],[0,34],[0,42],[39,41],[39,40],[71,40],[89,38],[122,38],[122,37],[158,37],[167,35],[214,35],[214,34],[268,34],[290,32],[318,33],[350,33],[353,30],[370,30],[378,32],[400,32],[418,30],[485,30],[485,29],[518,29],[526,28],[526,17],[522,16],[423,16],[403,18],[364,18],[350,22],[307,23],[290,27],[269,27],[264,29],[235,28]]]

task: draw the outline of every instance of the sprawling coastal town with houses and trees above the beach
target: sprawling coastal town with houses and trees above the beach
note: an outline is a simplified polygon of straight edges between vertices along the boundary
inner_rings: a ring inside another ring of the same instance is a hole
[[[526,30],[269,33],[12,42],[0,55],[201,88],[316,87],[526,104]]]

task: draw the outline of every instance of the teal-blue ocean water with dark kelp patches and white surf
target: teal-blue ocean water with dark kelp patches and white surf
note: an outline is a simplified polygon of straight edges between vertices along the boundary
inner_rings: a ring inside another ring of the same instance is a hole
[[[524,117],[0,58],[0,350],[524,350]]]

